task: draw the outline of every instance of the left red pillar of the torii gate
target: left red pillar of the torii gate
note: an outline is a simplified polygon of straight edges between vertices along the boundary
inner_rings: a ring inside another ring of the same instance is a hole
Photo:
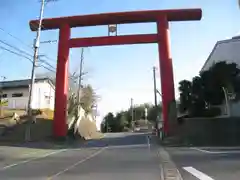
[[[67,100],[68,100],[68,58],[71,28],[63,24],[59,29],[58,60],[55,91],[55,111],[53,131],[55,137],[67,134]]]

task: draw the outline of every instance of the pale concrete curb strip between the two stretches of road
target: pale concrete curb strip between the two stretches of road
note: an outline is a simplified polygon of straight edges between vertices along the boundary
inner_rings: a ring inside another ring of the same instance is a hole
[[[163,147],[159,148],[159,157],[161,180],[183,180],[170,155]]]

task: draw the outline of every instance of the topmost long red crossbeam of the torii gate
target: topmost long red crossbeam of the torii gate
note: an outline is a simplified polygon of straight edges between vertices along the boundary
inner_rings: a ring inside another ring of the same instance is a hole
[[[156,22],[157,18],[160,16],[165,16],[168,21],[200,20],[202,17],[202,10],[169,9],[49,18],[43,19],[42,30],[59,29],[62,24],[68,24],[70,27],[83,27],[109,24],[148,23]],[[30,21],[30,28],[32,31],[37,30],[38,23],[39,20]]]

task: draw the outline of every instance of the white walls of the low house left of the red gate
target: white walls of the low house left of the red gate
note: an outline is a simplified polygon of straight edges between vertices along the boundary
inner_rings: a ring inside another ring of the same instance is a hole
[[[2,98],[7,100],[7,109],[27,109],[30,79],[2,81]],[[33,109],[54,109],[55,86],[48,78],[37,78],[33,89]]]

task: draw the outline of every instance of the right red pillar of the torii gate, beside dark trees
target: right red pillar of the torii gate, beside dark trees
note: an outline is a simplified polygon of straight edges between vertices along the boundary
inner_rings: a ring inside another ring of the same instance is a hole
[[[166,16],[157,20],[159,67],[162,90],[162,118],[164,136],[174,133],[176,103],[174,93],[173,65],[170,52],[169,22]]]

